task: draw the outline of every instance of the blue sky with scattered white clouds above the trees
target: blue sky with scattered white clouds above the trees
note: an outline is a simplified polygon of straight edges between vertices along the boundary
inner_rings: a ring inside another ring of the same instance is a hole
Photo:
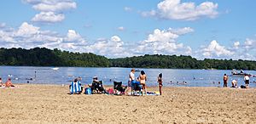
[[[256,60],[254,0],[5,0],[0,48]]]

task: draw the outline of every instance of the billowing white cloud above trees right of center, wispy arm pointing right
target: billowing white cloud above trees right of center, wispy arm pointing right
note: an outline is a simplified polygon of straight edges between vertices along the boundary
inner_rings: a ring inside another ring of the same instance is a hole
[[[189,30],[188,30],[189,29]],[[189,33],[193,29],[185,27],[181,29],[160,30],[155,29],[148,39],[144,40],[137,47],[137,54],[191,54],[192,49],[178,43],[177,37]]]

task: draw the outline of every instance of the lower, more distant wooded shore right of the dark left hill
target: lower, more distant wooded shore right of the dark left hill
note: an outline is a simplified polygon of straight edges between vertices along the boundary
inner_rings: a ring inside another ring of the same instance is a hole
[[[172,68],[172,69],[218,69],[256,70],[256,61],[232,59],[197,60],[191,56],[144,55],[123,59],[110,59],[113,67]]]

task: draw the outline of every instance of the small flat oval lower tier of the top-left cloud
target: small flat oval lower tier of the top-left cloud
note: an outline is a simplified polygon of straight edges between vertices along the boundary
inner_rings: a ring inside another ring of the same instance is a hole
[[[32,21],[55,23],[55,22],[61,22],[64,19],[65,19],[64,14],[55,14],[54,12],[41,12],[40,14],[36,14],[32,18]]]

